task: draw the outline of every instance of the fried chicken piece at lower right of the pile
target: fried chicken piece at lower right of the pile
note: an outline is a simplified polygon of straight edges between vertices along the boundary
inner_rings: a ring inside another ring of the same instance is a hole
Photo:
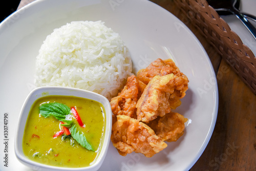
[[[147,125],[150,126],[163,141],[172,142],[177,141],[183,135],[185,129],[184,123],[186,121],[187,118],[184,118],[184,116],[170,112],[163,117],[158,117],[150,121]]]

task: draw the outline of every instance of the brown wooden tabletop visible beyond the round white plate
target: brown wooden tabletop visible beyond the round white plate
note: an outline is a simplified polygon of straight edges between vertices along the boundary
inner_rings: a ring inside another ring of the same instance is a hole
[[[18,8],[34,0],[21,0]],[[192,170],[256,169],[256,95],[235,74],[205,37],[184,20],[172,0],[151,0],[177,16],[197,36],[217,75],[219,112],[214,133]]]

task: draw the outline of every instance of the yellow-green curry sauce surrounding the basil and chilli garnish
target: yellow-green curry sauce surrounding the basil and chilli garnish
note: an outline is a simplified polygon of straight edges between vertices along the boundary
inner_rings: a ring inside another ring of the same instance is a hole
[[[60,131],[60,122],[50,116],[45,118],[39,115],[39,105],[45,102],[58,102],[69,106],[76,106],[77,112],[84,125],[80,127],[74,120],[77,131],[86,136],[92,145],[93,151],[82,147],[72,138],[53,138]],[[105,131],[105,110],[101,103],[86,98],[73,96],[45,96],[39,98],[31,107],[23,137],[23,152],[29,159],[52,166],[84,167],[89,166],[97,156],[101,147]]]

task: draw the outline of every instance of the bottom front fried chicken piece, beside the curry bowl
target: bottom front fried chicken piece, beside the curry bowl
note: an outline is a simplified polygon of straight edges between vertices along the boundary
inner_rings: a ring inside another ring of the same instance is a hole
[[[162,151],[167,144],[143,122],[126,115],[117,115],[112,126],[111,141],[121,156],[132,152],[152,157]]]

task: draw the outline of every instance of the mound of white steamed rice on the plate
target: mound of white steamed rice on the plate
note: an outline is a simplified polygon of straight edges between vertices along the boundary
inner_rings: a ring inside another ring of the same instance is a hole
[[[36,57],[35,85],[84,89],[111,99],[131,74],[119,34],[101,21],[79,21],[46,37]]]

